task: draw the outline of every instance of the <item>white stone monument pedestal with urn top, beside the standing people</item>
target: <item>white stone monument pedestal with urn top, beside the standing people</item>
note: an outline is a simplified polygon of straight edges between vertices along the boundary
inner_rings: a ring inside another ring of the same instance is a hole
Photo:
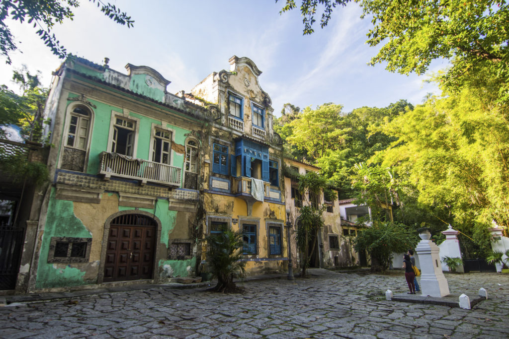
[[[419,234],[422,239],[417,244],[415,252],[420,263],[420,290],[423,296],[443,297],[449,294],[449,285],[442,273],[440,264],[440,249],[430,240],[430,232]]]

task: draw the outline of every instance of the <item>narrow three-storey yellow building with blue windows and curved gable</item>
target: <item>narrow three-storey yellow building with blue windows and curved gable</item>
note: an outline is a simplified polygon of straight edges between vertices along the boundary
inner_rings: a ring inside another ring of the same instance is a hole
[[[240,230],[247,274],[284,271],[281,138],[272,129],[271,100],[259,83],[262,72],[247,57],[229,61],[230,71],[213,72],[190,94],[181,94],[217,107],[202,140],[203,233]],[[202,271],[207,271],[205,246]]]

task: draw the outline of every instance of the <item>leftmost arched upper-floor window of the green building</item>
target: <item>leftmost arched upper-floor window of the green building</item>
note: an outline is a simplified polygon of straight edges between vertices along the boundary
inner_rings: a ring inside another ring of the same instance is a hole
[[[85,105],[75,105],[68,113],[61,168],[83,172],[92,128],[93,112]]]

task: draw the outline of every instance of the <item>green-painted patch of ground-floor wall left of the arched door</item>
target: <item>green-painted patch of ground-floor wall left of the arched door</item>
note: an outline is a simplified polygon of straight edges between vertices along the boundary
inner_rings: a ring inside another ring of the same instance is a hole
[[[65,287],[94,283],[84,281],[83,275],[85,275],[85,272],[72,267],[73,264],[67,264],[63,268],[64,264],[47,262],[51,237],[92,237],[90,231],[74,216],[73,203],[71,201],[56,200],[55,192],[56,189],[52,188],[41,242],[36,287]]]

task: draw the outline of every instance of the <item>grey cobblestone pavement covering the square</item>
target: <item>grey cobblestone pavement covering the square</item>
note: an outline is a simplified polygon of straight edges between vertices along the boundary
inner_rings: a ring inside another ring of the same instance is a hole
[[[509,274],[446,274],[451,293],[484,300],[467,311],[386,301],[403,272],[336,273],[239,284],[244,294],[155,288],[0,307],[0,336],[178,338],[509,337]]]

